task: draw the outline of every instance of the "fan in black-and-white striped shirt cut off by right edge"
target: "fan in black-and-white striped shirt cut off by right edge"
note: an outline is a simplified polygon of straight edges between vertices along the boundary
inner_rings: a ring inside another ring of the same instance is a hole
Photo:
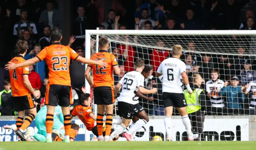
[[[249,92],[250,99],[250,115],[256,115],[256,81],[251,81],[246,89],[246,94]]]

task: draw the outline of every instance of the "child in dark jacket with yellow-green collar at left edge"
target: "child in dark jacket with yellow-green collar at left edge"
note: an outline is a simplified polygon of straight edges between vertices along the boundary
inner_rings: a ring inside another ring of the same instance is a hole
[[[0,92],[0,116],[12,116],[14,106],[10,80],[4,80],[4,90]]]

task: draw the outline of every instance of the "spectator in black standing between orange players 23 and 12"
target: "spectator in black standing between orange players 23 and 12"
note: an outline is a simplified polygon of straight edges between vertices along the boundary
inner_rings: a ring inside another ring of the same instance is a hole
[[[79,56],[83,55],[83,48],[82,47],[77,47],[76,48],[76,53]],[[71,78],[71,83],[73,88],[81,89],[84,87],[84,73],[85,73],[85,66],[82,62],[78,62],[76,60],[73,60],[70,63],[70,78]],[[78,92],[78,91],[76,91]],[[80,93],[78,93],[80,95]]]

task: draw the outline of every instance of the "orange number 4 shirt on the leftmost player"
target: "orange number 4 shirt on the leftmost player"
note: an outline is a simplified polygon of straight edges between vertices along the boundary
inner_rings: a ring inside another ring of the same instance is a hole
[[[23,56],[18,55],[10,62],[13,62],[15,64],[25,62],[26,60],[24,59]],[[12,96],[26,96],[28,94],[31,94],[31,92],[26,88],[24,82],[23,82],[23,75],[28,75],[29,67],[20,67],[16,68],[14,70],[10,70],[10,81],[11,81],[11,86],[12,86]]]

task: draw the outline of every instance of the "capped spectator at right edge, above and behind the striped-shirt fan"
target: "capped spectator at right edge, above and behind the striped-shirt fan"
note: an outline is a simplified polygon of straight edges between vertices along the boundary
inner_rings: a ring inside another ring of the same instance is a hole
[[[240,78],[242,80],[242,86],[248,84],[251,81],[256,81],[256,71],[252,70],[251,61],[245,60],[242,63],[243,69],[240,71]]]

